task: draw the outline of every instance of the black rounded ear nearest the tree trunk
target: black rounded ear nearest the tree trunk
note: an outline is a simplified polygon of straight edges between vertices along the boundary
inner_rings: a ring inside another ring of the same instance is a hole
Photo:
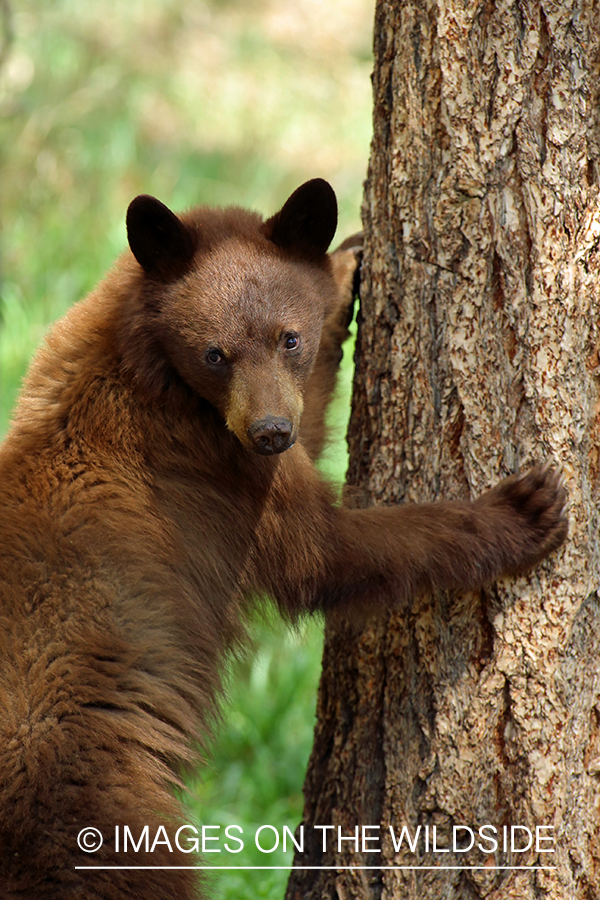
[[[316,259],[327,253],[337,228],[337,201],[330,184],[313,178],[294,191],[262,226],[262,233],[284,250]]]

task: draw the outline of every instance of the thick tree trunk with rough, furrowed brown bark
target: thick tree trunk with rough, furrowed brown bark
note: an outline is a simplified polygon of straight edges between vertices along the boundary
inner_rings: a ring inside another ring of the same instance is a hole
[[[600,896],[599,40],[599,0],[378,0],[348,502],[551,459],[571,532],[530,577],[327,627],[304,825],[382,852],[319,836],[295,864],[336,868],[290,900]],[[389,832],[488,824],[555,852]],[[414,865],[484,868],[381,868]]]

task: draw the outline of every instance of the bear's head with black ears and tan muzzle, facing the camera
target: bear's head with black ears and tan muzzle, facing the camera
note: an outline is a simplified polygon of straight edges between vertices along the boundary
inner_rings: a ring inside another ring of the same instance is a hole
[[[319,178],[267,221],[236,207],[177,216],[136,197],[127,233],[141,279],[128,355],[142,389],[156,396],[181,379],[248,449],[291,447],[338,297],[327,256],[336,225],[335,194]]]

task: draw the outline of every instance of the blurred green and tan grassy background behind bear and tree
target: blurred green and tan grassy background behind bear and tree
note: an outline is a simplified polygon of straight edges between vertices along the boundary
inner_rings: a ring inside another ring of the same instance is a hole
[[[9,9],[0,67],[0,435],[49,323],[125,247],[136,194],[175,209],[235,203],[270,214],[320,176],[338,195],[336,240],[360,227],[374,0],[9,0]],[[323,462],[338,482],[349,356]],[[301,815],[320,627],[291,633],[257,616],[253,634],[258,652],[231,665],[223,726],[186,801],[193,821],[238,824],[249,838],[243,853],[207,858],[213,865],[285,865],[289,851],[254,848],[254,829],[293,831]],[[286,880],[285,871],[240,868],[210,876],[210,893],[282,897]]]

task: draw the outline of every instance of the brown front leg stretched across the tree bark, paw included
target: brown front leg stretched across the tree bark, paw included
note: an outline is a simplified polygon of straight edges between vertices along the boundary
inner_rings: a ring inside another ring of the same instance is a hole
[[[304,528],[300,521],[292,527],[289,553],[273,540],[268,589],[292,613],[342,613],[350,606],[402,608],[424,591],[478,588],[527,571],[562,544],[566,499],[560,475],[535,467],[475,502],[323,504]]]

